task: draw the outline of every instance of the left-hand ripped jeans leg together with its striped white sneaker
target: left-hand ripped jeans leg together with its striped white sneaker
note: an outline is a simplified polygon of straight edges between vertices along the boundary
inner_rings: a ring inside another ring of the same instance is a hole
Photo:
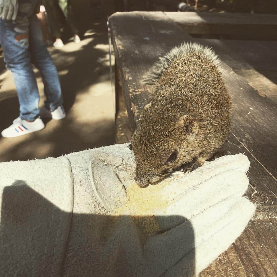
[[[39,118],[39,91],[30,61],[29,20],[35,3],[19,1],[16,20],[0,18],[0,43],[4,53],[6,68],[12,71],[20,104],[20,116],[12,125],[2,130],[2,137],[17,137],[44,128]]]

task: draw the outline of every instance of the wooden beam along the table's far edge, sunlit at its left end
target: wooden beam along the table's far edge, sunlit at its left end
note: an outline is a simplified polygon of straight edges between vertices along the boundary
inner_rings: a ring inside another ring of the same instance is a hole
[[[215,12],[165,12],[184,32],[189,34],[242,34],[253,39],[277,37],[274,14],[238,14]]]

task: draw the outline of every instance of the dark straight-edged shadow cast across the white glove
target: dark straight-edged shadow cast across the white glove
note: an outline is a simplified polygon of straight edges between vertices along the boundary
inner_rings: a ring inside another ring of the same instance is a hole
[[[150,234],[149,220],[65,212],[17,180],[2,193],[1,276],[194,276],[190,222],[157,216],[186,228]]]

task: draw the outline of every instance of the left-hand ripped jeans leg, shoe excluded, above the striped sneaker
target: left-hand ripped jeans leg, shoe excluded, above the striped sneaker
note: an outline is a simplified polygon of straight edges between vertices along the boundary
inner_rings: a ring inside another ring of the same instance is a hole
[[[19,98],[20,118],[33,121],[39,116],[39,91],[30,61],[29,20],[2,20],[0,43],[6,68],[12,71]]]

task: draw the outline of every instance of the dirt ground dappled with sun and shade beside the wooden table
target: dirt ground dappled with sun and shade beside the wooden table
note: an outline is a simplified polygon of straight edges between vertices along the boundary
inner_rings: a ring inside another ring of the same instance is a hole
[[[111,89],[106,19],[97,11],[79,17],[81,43],[74,43],[68,30],[64,47],[49,47],[60,76],[67,116],[44,120],[39,132],[17,138],[0,136],[0,161],[58,157],[86,148],[115,143],[115,101]],[[114,59],[112,59],[114,64]],[[43,106],[43,83],[35,69]],[[19,116],[19,103],[12,74],[0,57],[0,129]]]

